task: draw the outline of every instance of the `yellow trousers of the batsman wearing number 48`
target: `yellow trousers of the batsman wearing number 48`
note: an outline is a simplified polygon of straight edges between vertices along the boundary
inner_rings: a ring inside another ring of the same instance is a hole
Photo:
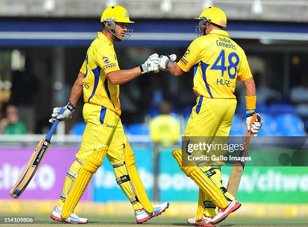
[[[236,106],[236,99],[205,98],[199,96],[197,104],[192,109],[184,136],[227,137],[232,126]],[[199,166],[199,168],[205,174],[209,169],[214,168],[215,174],[209,178],[217,186],[217,190],[222,190],[220,166]],[[228,192],[223,192],[223,194],[227,200],[235,199]],[[200,199],[203,201],[200,201]],[[215,205],[210,197],[201,190],[199,192],[200,202],[204,203],[205,216],[213,217],[216,215]]]

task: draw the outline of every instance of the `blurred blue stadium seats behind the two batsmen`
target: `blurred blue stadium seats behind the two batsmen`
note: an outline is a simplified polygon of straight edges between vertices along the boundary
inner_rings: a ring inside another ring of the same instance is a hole
[[[242,107],[239,107],[239,109]],[[290,104],[275,103],[270,106],[258,105],[258,111],[262,116],[264,125],[262,130],[259,132],[259,136],[305,136],[305,126],[308,127],[308,121],[304,123],[294,113],[294,106]],[[263,110],[263,111],[261,111]],[[157,116],[160,113],[159,109],[156,107],[151,107],[149,115],[151,117]],[[186,127],[187,121],[190,117],[191,106],[186,107],[182,110],[182,115],[177,115],[176,113],[171,113],[176,117],[182,126],[182,131]],[[279,113],[279,115],[277,115]],[[279,127],[278,127],[278,122]],[[230,136],[244,136],[246,132],[245,117],[241,114],[235,114],[233,118],[233,124],[230,130]],[[86,123],[77,123],[73,125],[70,130],[70,134],[82,135],[86,128]],[[125,134],[133,135],[149,135],[149,129],[147,124],[131,124],[123,125]],[[182,133],[183,133],[182,132]]]

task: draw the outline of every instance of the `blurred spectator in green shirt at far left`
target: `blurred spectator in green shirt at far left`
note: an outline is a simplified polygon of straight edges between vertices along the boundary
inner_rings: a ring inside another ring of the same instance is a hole
[[[26,134],[27,129],[23,122],[19,121],[18,109],[15,105],[9,105],[6,118],[1,120],[0,134]]]

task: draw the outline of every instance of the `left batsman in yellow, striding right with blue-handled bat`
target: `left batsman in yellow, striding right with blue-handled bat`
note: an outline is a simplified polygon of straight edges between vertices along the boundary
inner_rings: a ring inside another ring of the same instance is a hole
[[[134,153],[124,135],[120,115],[119,85],[148,72],[159,72],[159,55],[152,54],[144,64],[130,70],[120,70],[114,51],[114,42],[129,38],[130,21],[121,6],[104,10],[103,31],[90,45],[86,60],[70,93],[65,111],[53,109],[50,122],[71,118],[76,103],[84,94],[83,117],[86,129],[81,148],[66,174],[64,187],[51,218],[68,223],[87,223],[87,218],[75,214],[74,208],[82,197],[93,174],[107,156],[113,165],[117,184],[131,202],[137,223],[142,223],[164,212],[169,203],[152,205],[147,198],[135,167]],[[104,192],[102,192],[104,193]]]

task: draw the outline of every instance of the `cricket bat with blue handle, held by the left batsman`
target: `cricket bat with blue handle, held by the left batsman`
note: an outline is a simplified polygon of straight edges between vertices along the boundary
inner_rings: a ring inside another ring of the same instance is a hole
[[[60,113],[64,112],[64,108],[60,110]],[[33,178],[35,172],[37,171],[49,145],[50,140],[52,137],[52,134],[54,133],[59,120],[55,120],[55,122],[52,124],[48,134],[41,139],[41,141],[38,143],[35,151],[32,153],[28,163],[26,164],[25,168],[23,169],[23,172],[19,176],[18,180],[16,181],[15,185],[10,191],[10,195],[14,199],[18,199],[21,194],[25,191],[28,184],[30,183],[31,179]]]

